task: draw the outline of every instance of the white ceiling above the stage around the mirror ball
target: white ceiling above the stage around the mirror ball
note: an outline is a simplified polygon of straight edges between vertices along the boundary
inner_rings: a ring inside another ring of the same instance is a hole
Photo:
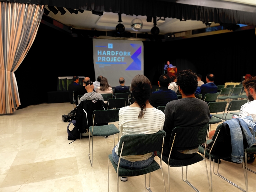
[[[53,12],[50,12],[48,16],[65,25],[72,26],[75,29],[115,30],[115,27],[118,24],[118,14],[112,12],[104,12],[102,16],[98,16],[93,15],[91,11],[84,11],[83,13],[78,12],[77,15],[74,13],[71,14],[68,11],[65,15],[61,15],[59,11],[56,15],[54,15]],[[135,18],[136,16],[122,14],[122,24],[125,26],[126,31],[136,33],[130,26],[131,21]],[[138,16],[137,18],[141,19],[143,22],[143,28],[138,33],[150,33],[150,30],[153,27],[153,19],[152,22],[147,22],[146,16]],[[218,24],[212,23],[211,27],[217,25]],[[165,18],[164,23],[157,22],[157,27],[160,29],[160,34],[206,28],[202,21],[180,21],[179,19],[172,18]]]

